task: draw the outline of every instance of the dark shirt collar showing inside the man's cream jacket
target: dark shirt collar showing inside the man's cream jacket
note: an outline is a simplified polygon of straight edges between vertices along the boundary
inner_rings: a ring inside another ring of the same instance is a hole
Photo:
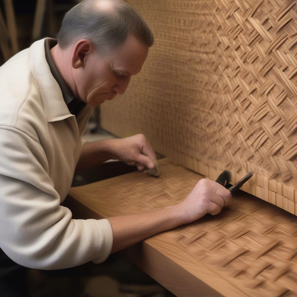
[[[53,38],[45,38],[44,47],[45,47],[45,59],[48,62],[48,66],[50,67],[50,72],[52,73],[53,77],[59,84],[64,101],[69,108],[69,112],[77,116],[79,111],[86,105],[85,102],[81,101],[80,99],[76,98],[72,91],[70,90],[69,86],[62,78],[59,70],[57,69],[53,58],[50,53],[50,49],[53,48],[57,44],[57,40]]]

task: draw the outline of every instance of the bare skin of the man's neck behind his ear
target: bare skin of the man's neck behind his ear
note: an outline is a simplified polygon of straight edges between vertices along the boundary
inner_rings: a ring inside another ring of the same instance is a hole
[[[71,55],[71,47],[67,48],[66,50],[62,50],[59,47],[59,44],[57,44],[53,48],[51,48],[50,54],[58,71],[61,74],[61,77],[65,80],[73,95],[76,98],[79,98],[78,90],[72,77],[72,69],[69,61],[69,57]]]

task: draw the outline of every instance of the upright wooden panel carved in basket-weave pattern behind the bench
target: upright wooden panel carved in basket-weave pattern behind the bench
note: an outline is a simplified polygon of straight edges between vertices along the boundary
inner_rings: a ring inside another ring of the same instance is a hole
[[[129,0],[155,44],[102,127],[297,214],[297,4],[287,0]]]

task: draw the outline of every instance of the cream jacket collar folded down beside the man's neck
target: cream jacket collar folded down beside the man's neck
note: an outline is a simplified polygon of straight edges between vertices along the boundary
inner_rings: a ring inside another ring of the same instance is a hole
[[[69,112],[61,88],[50,72],[45,58],[45,39],[38,40],[30,46],[31,70],[39,87],[48,122],[61,121],[74,115]]]

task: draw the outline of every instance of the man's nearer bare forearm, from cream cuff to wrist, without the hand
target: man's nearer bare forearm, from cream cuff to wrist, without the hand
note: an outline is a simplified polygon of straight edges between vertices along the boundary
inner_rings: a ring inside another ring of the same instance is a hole
[[[187,223],[178,206],[108,218],[113,230],[111,253],[130,247],[159,232]]]

